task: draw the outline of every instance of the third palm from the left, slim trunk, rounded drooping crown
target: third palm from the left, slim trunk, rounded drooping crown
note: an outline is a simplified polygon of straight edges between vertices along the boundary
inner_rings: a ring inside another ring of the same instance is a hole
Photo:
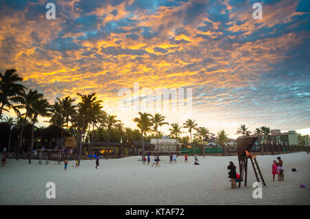
[[[38,98],[35,99],[32,102],[32,105],[30,106],[31,112],[30,112],[30,120],[31,120],[31,144],[30,144],[30,156],[29,156],[29,163],[31,163],[32,158],[32,152],[33,152],[33,143],[34,143],[34,123],[37,123],[38,116],[50,116],[51,107],[48,103],[47,99]]]

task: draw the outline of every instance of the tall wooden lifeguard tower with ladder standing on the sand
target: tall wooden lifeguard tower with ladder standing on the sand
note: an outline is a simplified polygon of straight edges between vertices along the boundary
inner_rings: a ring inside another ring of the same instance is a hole
[[[256,176],[256,180],[263,185],[266,185],[264,178],[262,177],[262,172],[260,171],[260,167],[258,166],[258,162],[256,160],[256,156],[249,154],[250,149],[254,146],[257,136],[249,136],[243,137],[240,136],[237,138],[237,152],[238,152],[238,160],[239,160],[239,168],[240,168],[240,178],[245,182],[245,187],[247,186],[247,163],[248,159],[251,160],[251,164],[254,169],[254,174]],[[239,187],[241,187],[242,180],[239,180]]]

